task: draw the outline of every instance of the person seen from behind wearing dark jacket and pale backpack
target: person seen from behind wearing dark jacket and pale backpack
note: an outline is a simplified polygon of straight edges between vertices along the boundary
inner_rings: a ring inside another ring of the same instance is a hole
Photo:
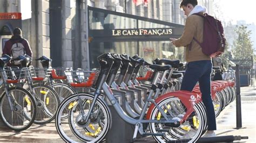
[[[20,28],[14,29],[14,35],[12,35],[11,39],[5,42],[3,54],[8,54],[12,56],[12,58],[17,58],[19,55],[29,55],[32,57],[32,51],[29,46],[28,40],[22,38],[22,30]],[[12,62],[9,66],[17,66],[19,67],[19,63],[17,61]]]

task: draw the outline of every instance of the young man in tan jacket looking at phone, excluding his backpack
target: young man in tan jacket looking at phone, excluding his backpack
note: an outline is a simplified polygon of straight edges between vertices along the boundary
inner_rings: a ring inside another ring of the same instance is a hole
[[[200,13],[203,15],[206,12],[206,8],[197,4],[197,0],[183,0],[180,3],[180,8],[184,10],[187,16],[184,32],[179,39],[170,38],[170,40],[176,47],[186,47],[186,61],[188,65],[180,89],[192,91],[197,82],[199,82],[203,103],[208,116],[208,131],[204,137],[214,137],[216,119],[211,98],[212,61],[211,57],[205,55],[200,45],[193,40],[195,38],[199,42],[203,42],[204,19],[193,14]]]

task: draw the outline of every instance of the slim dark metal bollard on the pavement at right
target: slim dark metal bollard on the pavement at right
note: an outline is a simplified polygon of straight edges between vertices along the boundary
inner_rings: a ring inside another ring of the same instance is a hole
[[[239,65],[236,65],[235,68],[235,77],[236,77],[236,83],[237,83],[237,128],[242,127],[242,113],[241,113],[241,95],[240,95],[240,74],[239,74]]]

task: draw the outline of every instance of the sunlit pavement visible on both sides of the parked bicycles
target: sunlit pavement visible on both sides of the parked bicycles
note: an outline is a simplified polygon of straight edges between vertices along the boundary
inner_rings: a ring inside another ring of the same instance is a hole
[[[246,97],[246,98],[244,98]],[[249,139],[234,142],[256,142],[256,87],[241,87],[242,128],[236,127],[235,101],[220,113],[217,118],[217,136],[241,135]],[[54,123],[46,125],[33,124],[22,132],[0,128],[0,142],[64,142],[58,135]],[[152,137],[139,139],[136,142],[154,142]]]

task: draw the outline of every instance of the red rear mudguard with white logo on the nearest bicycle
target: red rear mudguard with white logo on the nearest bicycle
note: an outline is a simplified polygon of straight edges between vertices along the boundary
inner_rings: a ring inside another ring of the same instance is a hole
[[[180,121],[181,123],[184,120],[186,120],[186,118],[190,116],[191,113],[194,111],[193,109],[194,104],[197,104],[202,101],[201,96],[199,96],[196,92],[179,90],[179,91],[169,92],[167,94],[161,95],[155,100],[155,102],[159,104],[161,101],[164,101],[164,99],[169,97],[179,98],[180,101],[185,105],[186,109],[188,109],[183,119],[181,119]],[[156,105],[154,105],[153,103],[150,105],[149,110],[147,111],[146,119],[150,119],[150,115],[155,106]]]

